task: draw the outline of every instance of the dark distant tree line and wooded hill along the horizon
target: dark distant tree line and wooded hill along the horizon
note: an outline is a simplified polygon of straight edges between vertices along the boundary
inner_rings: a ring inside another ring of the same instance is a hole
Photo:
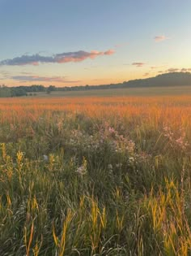
[[[36,95],[36,93],[52,93],[53,91],[82,91],[89,89],[120,89],[120,88],[140,88],[140,87],[156,87],[156,86],[181,86],[191,85],[191,73],[190,72],[170,72],[159,76],[124,81],[119,84],[110,85],[79,85],[79,86],[65,86],[56,87],[49,85],[45,87],[43,85],[30,85],[30,86],[16,86],[7,87],[6,85],[0,85],[0,98],[5,97],[20,97]]]

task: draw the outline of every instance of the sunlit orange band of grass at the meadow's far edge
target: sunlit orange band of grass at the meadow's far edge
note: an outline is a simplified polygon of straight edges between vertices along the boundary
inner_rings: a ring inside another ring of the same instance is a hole
[[[57,111],[84,113],[91,118],[138,117],[151,124],[190,125],[191,96],[116,97],[116,98],[9,98],[1,99],[1,124],[36,121],[43,115],[52,118]]]

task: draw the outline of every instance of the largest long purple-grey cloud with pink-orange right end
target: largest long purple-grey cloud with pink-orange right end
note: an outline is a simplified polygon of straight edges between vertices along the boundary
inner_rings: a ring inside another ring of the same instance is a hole
[[[95,59],[98,56],[112,55],[114,50],[106,51],[91,50],[90,52],[79,50],[75,52],[66,52],[62,54],[54,54],[53,56],[42,56],[40,54],[27,55],[15,57],[14,59],[4,59],[0,61],[0,66],[22,66],[22,65],[39,65],[40,63],[78,63],[85,59]]]

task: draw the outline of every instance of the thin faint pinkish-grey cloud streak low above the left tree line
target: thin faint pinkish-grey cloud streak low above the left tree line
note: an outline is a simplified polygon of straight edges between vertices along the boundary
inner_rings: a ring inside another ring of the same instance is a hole
[[[59,82],[59,83],[78,83],[80,80],[66,80],[65,76],[11,76],[12,80],[21,82]]]

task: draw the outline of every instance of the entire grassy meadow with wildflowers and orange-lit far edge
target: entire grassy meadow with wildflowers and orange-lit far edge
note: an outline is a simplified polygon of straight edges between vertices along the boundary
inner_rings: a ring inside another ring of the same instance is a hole
[[[1,255],[190,255],[191,101],[0,102]]]

